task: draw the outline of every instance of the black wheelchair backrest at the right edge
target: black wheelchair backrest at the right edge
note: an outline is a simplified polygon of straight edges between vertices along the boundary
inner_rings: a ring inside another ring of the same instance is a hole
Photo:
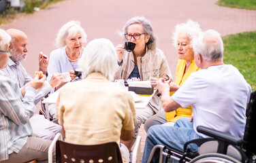
[[[251,94],[246,117],[243,149],[256,154],[256,91]]]

